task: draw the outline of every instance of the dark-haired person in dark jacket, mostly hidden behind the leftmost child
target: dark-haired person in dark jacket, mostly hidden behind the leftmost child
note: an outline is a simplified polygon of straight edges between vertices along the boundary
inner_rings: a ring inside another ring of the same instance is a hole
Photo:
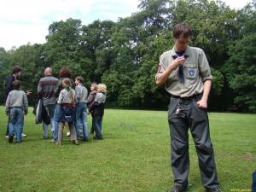
[[[15,82],[15,80],[19,79],[22,73],[22,68],[20,66],[15,66],[12,68],[12,73],[6,78],[6,82],[5,82],[5,101],[9,95],[9,92],[14,89],[13,83]],[[26,91],[26,96],[29,96],[31,94],[31,91],[27,90]],[[21,134],[22,137],[26,137],[25,133]],[[5,137],[9,138],[9,121],[7,123],[7,128],[6,128],[6,133],[5,133]]]

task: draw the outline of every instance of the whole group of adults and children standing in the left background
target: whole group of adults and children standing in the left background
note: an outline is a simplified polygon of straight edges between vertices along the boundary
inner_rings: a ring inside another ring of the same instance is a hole
[[[6,81],[6,114],[9,116],[6,136],[9,143],[22,140],[24,125],[24,114],[28,112],[27,96],[31,91],[20,90],[20,77],[22,69],[19,66],[13,67],[12,75]],[[63,128],[67,126],[67,136],[74,144],[82,141],[89,141],[87,129],[87,114],[92,116],[90,133],[96,133],[93,138],[102,140],[102,117],[104,114],[104,103],[106,102],[107,87],[105,84],[92,83],[90,94],[84,86],[84,78],[78,76],[71,79],[72,71],[62,67],[59,72],[59,79],[52,74],[52,69],[47,67],[44,70],[44,78],[38,83],[38,108],[42,113],[44,139],[49,138],[48,125],[51,126],[52,142],[61,145]],[[23,137],[26,136],[23,134]]]

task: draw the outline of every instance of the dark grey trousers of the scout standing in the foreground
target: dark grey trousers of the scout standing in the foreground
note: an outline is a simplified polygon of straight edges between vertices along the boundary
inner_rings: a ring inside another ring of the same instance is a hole
[[[187,99],[171,97],[168,119],[171,135],[171,166],[174,183],[187,186],[189,175],[189,134],[195,142],[201,171],[201,181],[207,188],[218,186],[207,111],[198,108],[201,96]],[[177,110],[179,108],[180,110]]]

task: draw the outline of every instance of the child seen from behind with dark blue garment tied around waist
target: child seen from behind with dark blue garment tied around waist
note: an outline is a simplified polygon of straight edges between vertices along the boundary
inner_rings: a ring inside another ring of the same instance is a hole
[[[62,80],[63,90],[60,92],[58,104],[61,105],[61,120],[59,122],[57,145],[61,145],[64,123],[67,122],[70,130],[70,140],[79,145],[76,130],[74,127],[75,120],[75,90],[71,88],[70,79]]]

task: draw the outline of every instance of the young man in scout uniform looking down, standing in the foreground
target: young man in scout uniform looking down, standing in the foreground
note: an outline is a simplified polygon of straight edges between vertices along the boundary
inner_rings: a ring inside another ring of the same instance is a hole
[[[168,192],[182,192],[188,187],[189,130],[195,142],[204,187],[208,192],[221,192],[206,110],[212,75],[204,51],[188,46],[191,35],[188,24],[174,26],[175,45],[160,55],[155,77],[156,84],[165,84],[166,91],[171,94],[168,121],[174,185]]]

